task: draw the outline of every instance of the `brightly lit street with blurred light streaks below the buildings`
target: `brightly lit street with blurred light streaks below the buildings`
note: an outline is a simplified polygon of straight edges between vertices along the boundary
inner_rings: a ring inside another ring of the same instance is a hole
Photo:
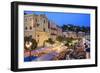
[[[83,39],[75,48],[69,49],[63,44],[55,44],[53,47],[44,47],[31,51],[31,61],[49,61],[49,60],[70,60],[85,58],[86,52],[84,42],[89,41]],[[25,53],[25,59],[28,60],[30,52]]]

